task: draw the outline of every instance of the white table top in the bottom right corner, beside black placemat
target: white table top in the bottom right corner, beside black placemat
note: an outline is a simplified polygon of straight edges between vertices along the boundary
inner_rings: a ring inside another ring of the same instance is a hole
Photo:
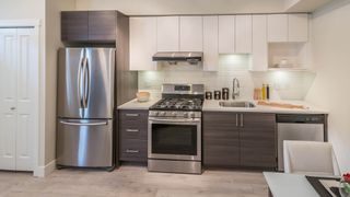
[[[264,172],[273,197],[319,197],[305,175]]]

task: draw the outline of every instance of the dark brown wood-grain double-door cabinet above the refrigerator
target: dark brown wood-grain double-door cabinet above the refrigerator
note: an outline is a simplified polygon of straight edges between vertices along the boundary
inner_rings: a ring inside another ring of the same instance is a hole
[[[61,39],[65,43],[115,43],[116,11],[61,12]]]

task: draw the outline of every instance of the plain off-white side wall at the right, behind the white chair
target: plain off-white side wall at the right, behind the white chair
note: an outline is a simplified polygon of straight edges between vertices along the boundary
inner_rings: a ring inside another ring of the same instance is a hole
[[[350,0],[314,13],[314,60],[317,77],[306,100],[328,108],[329,139],[340,167],[350,171]]]

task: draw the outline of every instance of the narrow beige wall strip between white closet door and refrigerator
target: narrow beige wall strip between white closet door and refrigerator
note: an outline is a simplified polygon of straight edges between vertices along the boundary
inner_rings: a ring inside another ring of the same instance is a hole
[[[57,50],[60,42],[60,11],[74,10],[74,0],[46,0],[45,164],[56,159]]]

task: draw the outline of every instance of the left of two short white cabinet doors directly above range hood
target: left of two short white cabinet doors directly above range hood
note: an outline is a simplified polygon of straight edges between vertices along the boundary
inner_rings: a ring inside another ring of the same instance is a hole
[[[179,50],[179,18],[160,16],[156,18],[156,50],[178,51]]]

